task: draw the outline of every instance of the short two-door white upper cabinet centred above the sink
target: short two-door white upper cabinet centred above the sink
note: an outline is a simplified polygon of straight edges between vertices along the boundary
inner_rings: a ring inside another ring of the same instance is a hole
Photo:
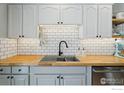
[[[39,24],[82,24],[81,5],[39,5]]]

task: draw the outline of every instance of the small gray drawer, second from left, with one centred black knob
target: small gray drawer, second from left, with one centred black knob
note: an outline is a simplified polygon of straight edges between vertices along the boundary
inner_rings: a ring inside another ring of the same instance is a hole
[[[26,73],[28,73],[28,67],[12,67],[12,73],[26,74]]]

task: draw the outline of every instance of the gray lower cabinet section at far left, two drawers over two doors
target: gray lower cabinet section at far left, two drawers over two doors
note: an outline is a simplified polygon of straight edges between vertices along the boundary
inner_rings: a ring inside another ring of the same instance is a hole
[[[0,67],[0,85],[28,85],[28,67]]]

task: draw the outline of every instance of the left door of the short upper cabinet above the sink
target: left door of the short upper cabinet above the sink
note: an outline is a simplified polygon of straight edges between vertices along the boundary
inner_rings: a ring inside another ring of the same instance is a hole
[[[59,5],[40,5],[39,24],[58,24]]]

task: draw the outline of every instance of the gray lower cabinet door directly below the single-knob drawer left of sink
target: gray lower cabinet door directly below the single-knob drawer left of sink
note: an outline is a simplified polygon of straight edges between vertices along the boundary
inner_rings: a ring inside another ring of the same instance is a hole
[[[11,76],[12,85],[28,85],[28,75]]]

